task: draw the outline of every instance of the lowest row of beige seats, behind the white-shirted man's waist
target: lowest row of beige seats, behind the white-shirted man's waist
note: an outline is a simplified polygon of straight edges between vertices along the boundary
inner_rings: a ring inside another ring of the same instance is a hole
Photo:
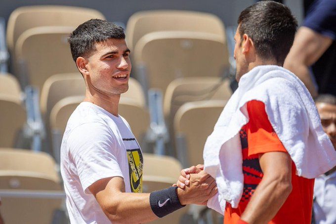
[[[168,156],[143,154],[143,192],[171,186],[181,164]],[[53,158],[44,152],[0,148],[1,215],[8,224],[61,223],[64,191]],[[166,169],[169,167],[169,169]],[[19,214],[18,214],[19,211]],[[185,207],[153,224],[178,223]]]

